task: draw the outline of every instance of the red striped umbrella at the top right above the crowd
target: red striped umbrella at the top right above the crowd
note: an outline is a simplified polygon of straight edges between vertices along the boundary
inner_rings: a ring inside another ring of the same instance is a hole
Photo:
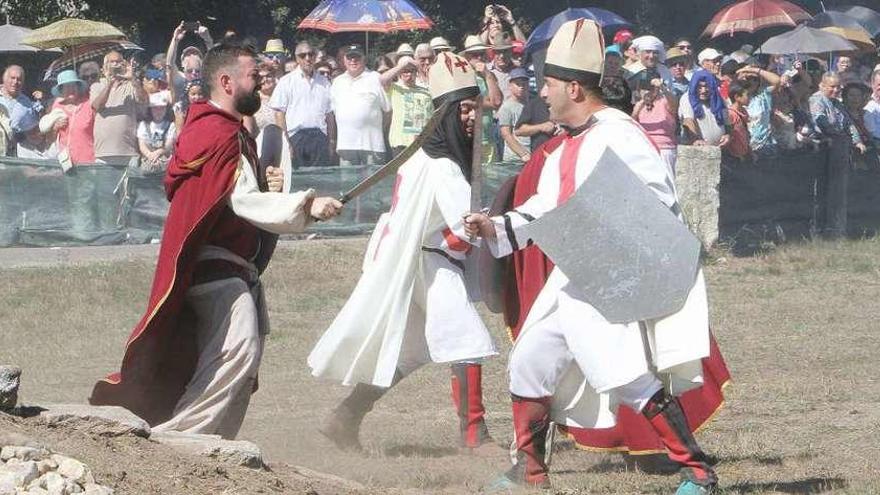
[[[702,36],[717,38],[733,33],[754,33],[774,26],[797,26],[813,16],[785,0],[745,0],[721,9]]]

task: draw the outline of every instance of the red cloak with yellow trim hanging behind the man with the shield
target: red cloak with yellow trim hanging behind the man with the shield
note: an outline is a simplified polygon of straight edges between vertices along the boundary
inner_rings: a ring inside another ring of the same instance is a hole
[[[506,195],[505,198],[497,198],[493,211],[503,206],[506,206],[504,211],[516,208],[537,192],[544,162],[564,139],[564,136],[555,136],[532,154],[532,158],[516,177],[512,194]],[[502,194],[504,194],[503,190]],[[506,284],[503,289],[504,320],[508,325],[511,340],[516,340],[532,304],[553,270],[553,262],[537,246],[529,246],[514,252],[507,266]],[[721,356],[715,337],[710,334],[709,356],[703,359],[703,386],[690,390],[679,398],[691,431],[700,429],[724,405],[722,390],[729,380],[727,365]],[[612,450],[630,454],[666,451],[648,420],[628,407],[621,407],[618,410],[617,424],[612,428],[561,429],[578,446],[587,450]]]

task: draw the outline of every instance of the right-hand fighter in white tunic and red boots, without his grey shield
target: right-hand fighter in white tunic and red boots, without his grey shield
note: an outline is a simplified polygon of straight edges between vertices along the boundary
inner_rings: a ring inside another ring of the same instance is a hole
[[[601,30],[592,21],[568,22],[553,37],[541,97],[551,120],[569,136],[547,158],[532,198],[498,217],[467,217],[466,232],[481,235],[495,256],[530,245],[533,239],[523,227],[589,181],[609,148],[664,205],[678,211],[672,177],[656,147],[629,116],[601,99],[603,54]],[[605,428],[626,405],[646,416],[680,464],[685,480],[677,493],[708,493],[717,478],[675,398],[701,383],[699,360],[709,353],[702,275],[678,313],[651,321],[612,324],[579,290],[554,268],[511,352],[516,463],[492,488],[549,484],[544,438],[551,417],[563,425]]]

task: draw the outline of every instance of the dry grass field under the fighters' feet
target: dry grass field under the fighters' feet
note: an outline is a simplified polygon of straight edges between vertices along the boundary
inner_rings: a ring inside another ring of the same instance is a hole
[[[362,430],[365,455],[340,453],[315,431],[346,390],[313,379],[305,359],[356,282],[364,245],[311,241],[276,253],[265,277],[272,334],[240,436],[264,449],[276,473],[301,465],[376,493],[475,492],[505,459],[458,454],[443,366],[419,370],[377,405]],[[0,268],[0,363],[24,369],[23,401],[84,401],[116,369],[153,263]],[[716,253],[706,275],[733,375],[724,409],[699,435],[717,458],[721,492],[880,493],[880,241]],[[502,349],[484,378],[489,428],[508,441],[509,344],[500,318],[485,317]],[[558,493],[663,494],[677,484],[620,455],[564,444],[552,477]]]

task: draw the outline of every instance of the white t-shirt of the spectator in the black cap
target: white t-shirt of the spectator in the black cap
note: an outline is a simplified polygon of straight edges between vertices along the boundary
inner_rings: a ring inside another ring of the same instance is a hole
[[[333,80],[330,100],[336,115],[336,149],[385,151],[382,114],[391,102],[379,73],[365,70],[353,78],[347,72]]]

